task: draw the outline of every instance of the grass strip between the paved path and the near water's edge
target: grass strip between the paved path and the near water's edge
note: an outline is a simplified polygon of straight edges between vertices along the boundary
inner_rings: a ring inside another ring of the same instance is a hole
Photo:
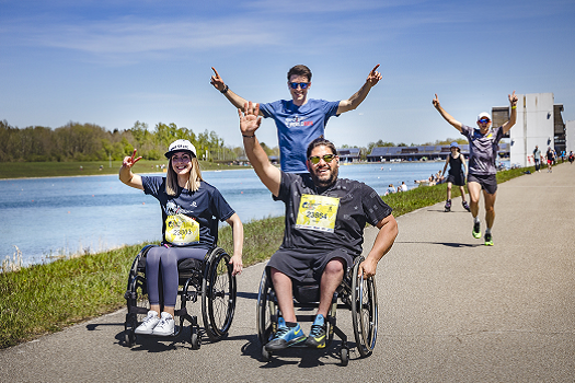
[[[118,166],[119,167],[119,164]],[[526,170],[497,173],[503,183]],[[446,199],[447,185],[418,187],[383,197],[395,217]],[[452,188],[452,197],[459,188]],[[244,224],[244,266],[267,259],[280,245],[284,218]],[[145,244],[0,272],[0,348],[57,332],[126,304],[128,269]],[[231,228],[220,230],[219,245],[231,252]]]

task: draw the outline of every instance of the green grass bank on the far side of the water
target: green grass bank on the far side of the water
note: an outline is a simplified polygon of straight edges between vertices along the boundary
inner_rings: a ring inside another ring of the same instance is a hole
[[[161,165],[168,165],[166,160],[140,160],[134,165],[135,173],[161,172]],[[245,169],[239,165],[227,165],[200,161],[203,171]],[[102,166],[102,169],[100,169]],[[0,178],[24,177],[69,177],[77,175],[118,174],[122,161],[101,162],[0,162]],[[158,166],[158,167],[157,167]]]

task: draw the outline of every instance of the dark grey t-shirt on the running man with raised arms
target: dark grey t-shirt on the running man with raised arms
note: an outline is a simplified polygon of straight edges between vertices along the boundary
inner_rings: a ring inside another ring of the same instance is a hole
[[[490,128],[483,135],[480,129],[463,125],[461,135],[469,140],[469,174],[496,174],[495,160],[503,137],[503,127]]]

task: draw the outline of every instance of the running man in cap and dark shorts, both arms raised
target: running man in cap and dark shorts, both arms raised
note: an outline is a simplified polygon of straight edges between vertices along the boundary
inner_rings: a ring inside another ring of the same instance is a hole
[[[481,223],[479,219],[479,200],[481,190],[483,189],[483,198],[485,201],[485,221],[487,229],[485,230],[485,245],[493,246],[493,235],[491,229],[495,221],[495,197],[497,194],[497,179],[495,177],[497,169],[495,167],[495,160],[497,158],[498,143],[503,135],[505,135],[515,125],[517,119],[517,95],[515,91],[509,94],[509,104],[511,115],[509,120],[498,128],[492,128],[491,116],[488,113],[481,113],[478,116],[478,128],[465,126],[455,119],[448,114],[439,104],[437,94],[433,100],[433,104],[437,112],[452,125],[461,135],[469,140],[469,172],[468,172],[468,189],[471,199],[470,209],[473,216],[473,237],[481,237]]]

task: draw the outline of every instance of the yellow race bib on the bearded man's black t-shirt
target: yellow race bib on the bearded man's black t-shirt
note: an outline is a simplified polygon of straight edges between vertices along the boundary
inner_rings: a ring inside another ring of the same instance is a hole
[[[297,229],[333,233],[340,198],[304,194],[299,202]]]

